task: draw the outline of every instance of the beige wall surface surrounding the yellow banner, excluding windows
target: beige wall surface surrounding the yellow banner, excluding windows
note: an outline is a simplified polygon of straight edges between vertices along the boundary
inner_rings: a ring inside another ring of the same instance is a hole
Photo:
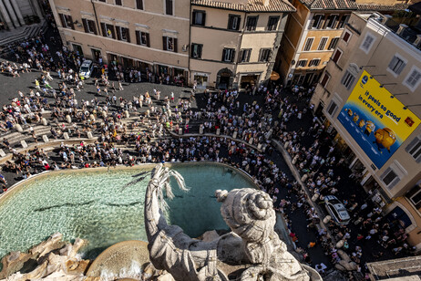
[[[375,36],[375,42],[370,48],[370,51],[365,54],[365,52],[360,49],[360,46],[367,33]],[[356,80],[361,76],[362,70],[365,69],[368,73],[372,74],[379,83],[385,84],[384,87],[392,94],[395,94],[395,99],[400,100],[404,105],[419,104],[421,103],[421,97],[416,94],[419,92],[419,87],[415,90],[411,90],[410,88],[407,88],[403,82],[408,77],[413,67],[421,68],[420,50],[409,45],[402,38],[396,36],[385,29],[385,27],[382,27],[380,24],[372,20],[369,21],[361,36],[358,36],[357,33],[354,32],[352,40],[347,46],[345,46],[344,42],[342,42],[338,47],[344,48],[344,57],[341,57],[337,64],[331,61],[326,68],[326,71],[332,75],[331,80],[326,86],[326,90],[330,92],[330,95],[326,94],[322,88],[318,88],[317,95],[321,98],[325,98],[324,104],[326,106],[324,108],[324,113],[329,120],[333,121],[334,127],[350,145],[360,161],[365,164],[365,168],[367,168],[368,171],[375,177],[375,180],[379,182],[380,186],[384,188],[385,193],[387,193],[390,198],[401,196],[412,188],[417,180],[419,180],[421,165],[416,163],[415,159],[406,152],[406,147],[411,140],[414,140],[417,135],[421,134],[421,126],[419,126],[407,138],[407,140],[403,142],[392,157],[385,162],[383,167],[376,170],[373,169],[373,162],[366,156],[365,152],[354,141],[353,137],[344,129],[342,124],[336,120],[339,111],[344,107],[344,103],[355,87],[354,82],[354,85],[349,90],[344,88],[341,83],[341,79],[343,78],[346,69],[350,67],[350,64],[355,64],[360,68]],[[387,69],[395,54],[399,54],[401,57],[406,59],[406,67],[403,68],[402,72],[398,76],[395,76]],[[336,102],[339,104],[338,110],[334,116],[331,117],[325,110],[332,99],[336,99]],[[421,107],[416,106],[408,108],[416,114],[416,116],[421,117]],[[402,177],[395,187],[389,190],[385,187],[385,183],[381,181],[381,175],[394,163],[397,163],[398,166],[402,167],[405,176]]]

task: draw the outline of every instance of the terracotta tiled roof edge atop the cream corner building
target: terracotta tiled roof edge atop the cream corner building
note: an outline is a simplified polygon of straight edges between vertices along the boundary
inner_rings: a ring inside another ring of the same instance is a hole
[[[247,4],[228,3],[214,0],[191,0],[191,5],[209,6],[220,9],[242,12],[295,12],[295,8],[286,0],[269,0],[269,5],[263,5],[263,0],[248,0]]]

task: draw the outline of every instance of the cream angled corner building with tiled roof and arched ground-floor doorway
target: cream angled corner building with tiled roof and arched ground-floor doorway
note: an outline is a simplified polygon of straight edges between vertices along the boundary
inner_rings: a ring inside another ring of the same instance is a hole
[[[267,81],[293,11],[285,0],[192,0],[190,80],[201,88]]]

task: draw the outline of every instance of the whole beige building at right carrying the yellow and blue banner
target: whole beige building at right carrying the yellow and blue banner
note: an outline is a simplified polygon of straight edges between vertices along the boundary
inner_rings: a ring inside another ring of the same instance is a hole
[[[352,14],[312,99],[350,169],[363,175],[365,191],[418,250],[420,92],[419,31],[391,16]]]

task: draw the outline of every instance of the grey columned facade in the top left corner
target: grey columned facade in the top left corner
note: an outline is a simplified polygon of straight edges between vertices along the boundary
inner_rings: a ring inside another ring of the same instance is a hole
[[[11,30],[43,18],[37,0],[0,0],[0,30]]]

